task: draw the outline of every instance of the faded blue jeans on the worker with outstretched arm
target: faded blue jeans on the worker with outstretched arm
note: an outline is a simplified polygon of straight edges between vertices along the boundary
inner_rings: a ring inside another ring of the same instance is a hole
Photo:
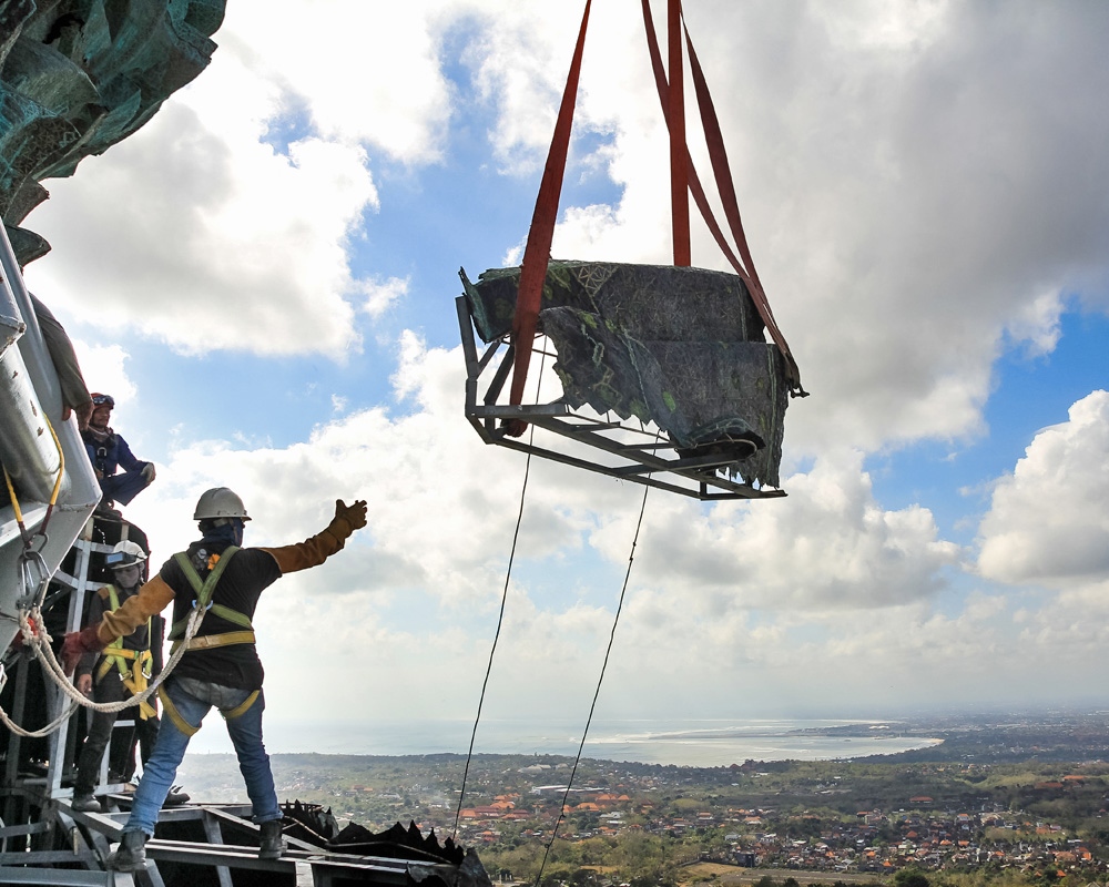
[[[194,727],[200,726],[204,715],[213,706],[221,712],[230,712],[246,702],[252,693],[250,690],[234,690],[191,677],[171,677],[163,686],[177,714]],[[282,818],[277,793],[274,791],[273,772],[269,769],[269,755],[262,744],[262,712],[265,707],[265,696],[260,692],[250,708],[227,721],[227,734],[235,745],[238,768],[246,781],[246,794],[254,806],[254,822],[258,824]],[[131,804],[131,818],[123,827],[124,832],[145,832],[147,837],[153,837],[157,813],[177,775],[177,767],[189,747],[189,738],[190,734],[181,731],[166,706],[157,731],[157,741],[154,743],[154,753],[143,769],[142,781]]]

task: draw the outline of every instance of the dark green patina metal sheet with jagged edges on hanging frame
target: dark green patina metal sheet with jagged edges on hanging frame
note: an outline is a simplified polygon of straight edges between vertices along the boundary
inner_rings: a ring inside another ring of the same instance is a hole
[[[487,271],[477,284],[462,274],[486,341],[511,330],[519,278],[518,267]],[[753,442],[757,449],[735,463],[733,476],[781,486],[785,363],[765,341],[736,275],[551,262],[539,329],[558,351],[554,369],[570,407],[653,421],[683,455]]]

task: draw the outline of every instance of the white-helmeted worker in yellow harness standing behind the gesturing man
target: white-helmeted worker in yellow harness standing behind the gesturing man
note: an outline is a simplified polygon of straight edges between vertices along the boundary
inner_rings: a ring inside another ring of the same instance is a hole
[[[134,542],[123,541],[104,560],[112,571],[112,582],[93,595],[89,608],[90,625],[99,625],[105,612],[118,609],[139,593],[146,552]],[[125,638],[118,638],[101,654],[90,652],[83,655],[77,669],[77,689],[98,703],[120,702],[146,689],[146,681],[151,676],[151,661],[150,624],[144,622]],[[145,702],[140,704],[136,721],[154,716],[151,705]],[[77,781],[73,783],[75,810],[101,813],[100,802],[92,793],[98,782],[100,762],[112,741],[116,717],[116,712],[92,713],[92,726],[84,738],[84,747],[78,759]]]

